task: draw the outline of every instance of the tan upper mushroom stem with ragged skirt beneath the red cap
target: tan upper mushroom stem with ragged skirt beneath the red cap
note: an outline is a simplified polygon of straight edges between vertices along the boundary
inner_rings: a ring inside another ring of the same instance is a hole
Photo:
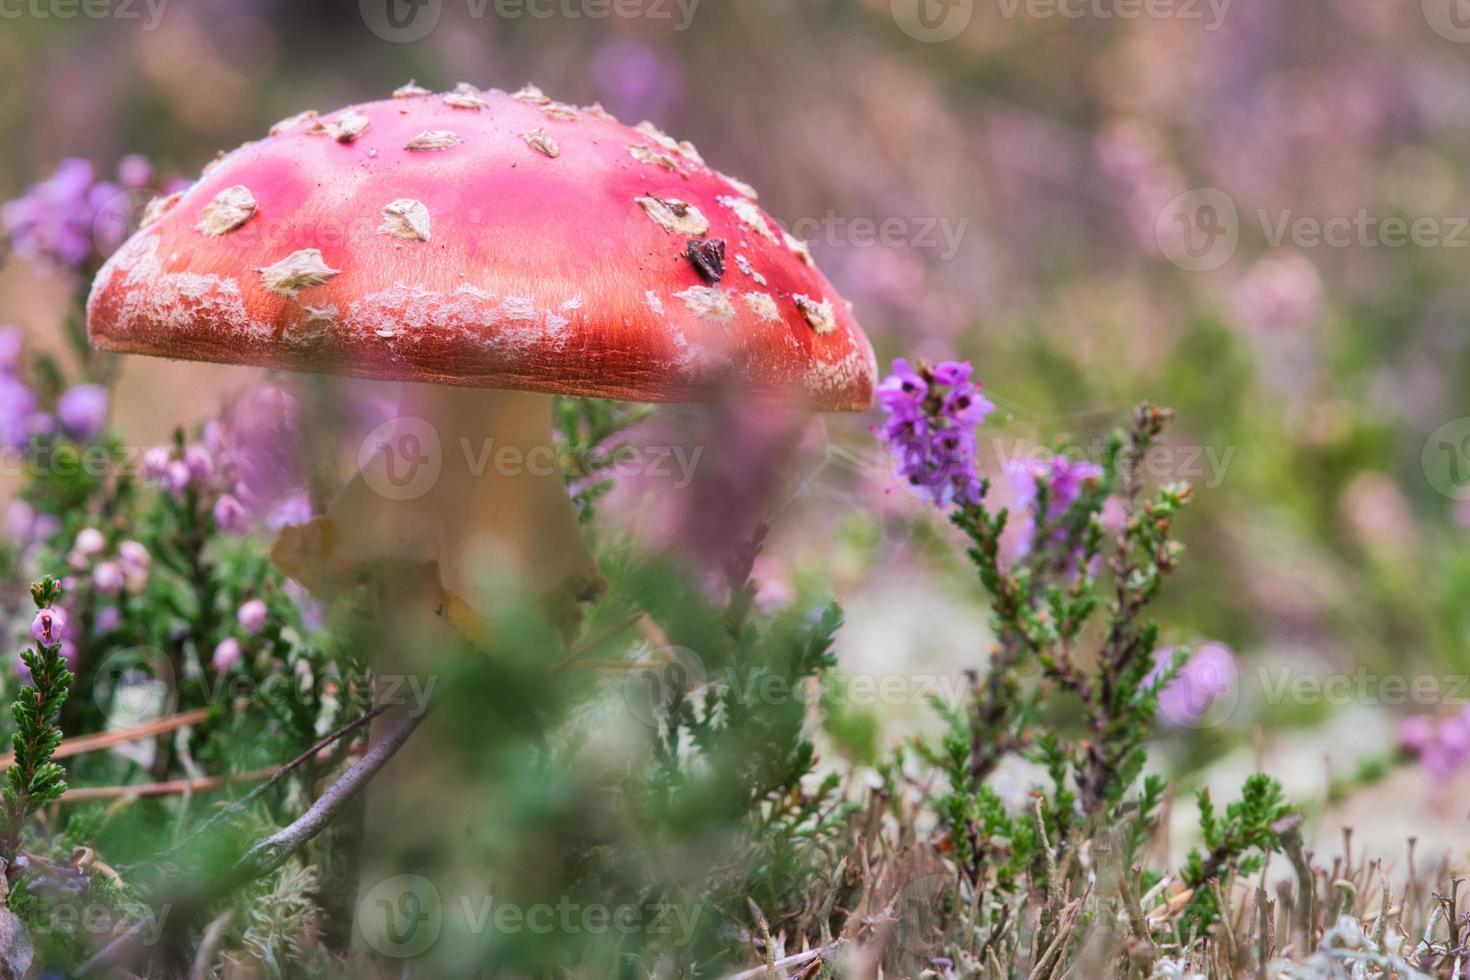
[[[562,478],[550,395],[404,385],[369,454],[326,514],[282,529],[272,548],[313,595],[370,583],[473,636],[492,580],[548,601],[564,627],[601,585]],[[423,594],[404,595],[407,583]]]

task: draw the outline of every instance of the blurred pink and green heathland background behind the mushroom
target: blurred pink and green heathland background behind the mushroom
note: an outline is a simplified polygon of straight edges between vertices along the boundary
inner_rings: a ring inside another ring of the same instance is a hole
[[[1351,824],[1379,852],[1408,835],[1449,848],[1470,789],[1460,4],[15,4],[0,200],[66,157],[112,179],[143,154],[162,188],[276,119],[410,78],[535,82],[651,119],[760,188],[881,364],[973,360],[1000,407],[982,441],[995,475],[1048,448],[1095,454],[1132,404],[1172,406],[1150,473],[1191,480],[1198,504],[1161,619],[1170,644],[1217,646],[1205,702],[1166,707],[1170,774],[1225,786],[1264,764],[1319,839]],[[0,270],[0,323],[63,353],[75,273],[22,251]],[[126,359],[115,416],[147,445],[253,378]],[[904,679],[861,707],[883,751],[988,639],[956,533],[897,489],[873,422],[803,429],[757,573],[770,602],[833,589],[841,670]],[[632,482],[613,504],[613,522],[650,510]],[[1435,742],[1423,761],[1401,752],[1405,721]]]

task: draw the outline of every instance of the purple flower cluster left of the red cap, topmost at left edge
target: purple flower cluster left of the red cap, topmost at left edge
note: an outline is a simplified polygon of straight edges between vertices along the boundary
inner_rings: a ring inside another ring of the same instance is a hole
[[[87,160],[62,160],[51,176],[0,207],[0,225],[18,254],[81,269],[122,244],[134,210],[129,191],[151,179],[153,167],[140,156],[118,165],[116,181],[98,179]]]

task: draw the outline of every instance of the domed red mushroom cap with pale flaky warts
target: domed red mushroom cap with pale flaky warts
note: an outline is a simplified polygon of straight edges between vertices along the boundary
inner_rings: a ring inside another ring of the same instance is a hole
[[[631,401],[863,410],[876,381],[750,187],[531,87],[282,120],[150,206],[87,323],[131,354]]]

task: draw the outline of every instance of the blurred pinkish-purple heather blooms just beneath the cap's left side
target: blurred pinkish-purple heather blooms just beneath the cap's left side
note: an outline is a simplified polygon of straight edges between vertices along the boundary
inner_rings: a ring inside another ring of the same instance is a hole
[[[312,517],[312,498],[300,476],[300,407],[270,385],[243,392],[200,442],[179,450],[157,445],[143,454],[143,478],[175,500],[190,488],[209,507],[215,526],[245,533],[254,523],[272,530]]]

